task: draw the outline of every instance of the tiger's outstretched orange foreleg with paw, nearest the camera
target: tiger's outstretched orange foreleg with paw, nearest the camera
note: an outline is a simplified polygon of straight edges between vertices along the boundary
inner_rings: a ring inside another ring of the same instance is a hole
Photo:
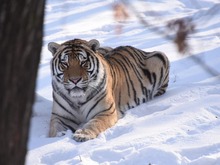
[[[76,130],[73,139],[84,142],[96,138],[101,132],[113,126],[118,120],[117,112],[102,112],[86,123],[82,129]]]

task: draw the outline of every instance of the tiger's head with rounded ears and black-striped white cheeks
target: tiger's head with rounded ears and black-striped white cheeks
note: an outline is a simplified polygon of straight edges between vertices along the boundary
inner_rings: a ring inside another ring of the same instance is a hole
[[[103,76],[97,49],[99,41],[74,39],[62,44],[50,42],[52,81],[59,92],[79,98],[96,89]],[[64,90],[64,91],[62,91]]]

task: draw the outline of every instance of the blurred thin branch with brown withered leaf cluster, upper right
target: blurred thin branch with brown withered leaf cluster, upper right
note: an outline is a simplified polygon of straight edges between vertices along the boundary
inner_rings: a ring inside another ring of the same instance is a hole
[[[215,14],[220,11],[219,10],[220,9],[220,3],[215,4],[214,6],[212,6],[210,9],[208,9],[203,14],[194,15],[191,18],[181,18],[181,19],[169,21],[167,23],[168,31],[175,30],[175,32],[176,32],[176,36],[173,36],[173,35],[169,35],[166,31],[161,30],[159,27],[156,27],[155,25],[150,24],[147,20],[145,20],[141,16],[141,14],[135,9],[135,7],[132,6],[131,3],[129,3],[129,1],[121,0],[121,2],[125,6],[127,6],[135,14],[135,16],[139,19],[139,21],[145,27],[147,27],[149,30],[163,36],[163,38],[165,38],[167,40],[173,41],[177,45],[178,50],[179,50],[180,53],[189,54],[190,57],[193,59],[193,61],[198,63],[200,66],[202,66],[202,68],[205,71],[207,71],[210,75],[212,75],[212,76],[220,75],[220,73],[218,71],[216,71],[215,69],[208,66],[199,57],[192,55],[190,53],[189,45],[187,43],[187,38],[188,38],[189,34],[195,32],[195,25],[193,24],[193,21],[198,20],[200,18],[203,18],[203,20],[206,21],[206,22],[210,21],[215,16]],[[197,2],[193,1],[192,4],[194,4],[194,6],[197,6],[197,7],[201,8],[199,3],[197,3]],[[155,15],[157,15],[157,14],[155,14]],[[209,17],[205,18],[205,15],[208,15]]]

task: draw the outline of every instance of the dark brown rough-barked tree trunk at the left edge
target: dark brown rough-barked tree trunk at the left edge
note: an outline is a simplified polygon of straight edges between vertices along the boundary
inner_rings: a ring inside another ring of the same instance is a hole
[[[0,5],[0,165],[25,162],[45,0]]]

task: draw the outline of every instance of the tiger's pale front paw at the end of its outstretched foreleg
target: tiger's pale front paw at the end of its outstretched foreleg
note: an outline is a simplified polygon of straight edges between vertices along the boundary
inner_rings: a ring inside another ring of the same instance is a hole
[[[77,142],[85,142],[94,138],[96,138],[96,135],[88,129],[78,129],[73,135],[73,139]]]

